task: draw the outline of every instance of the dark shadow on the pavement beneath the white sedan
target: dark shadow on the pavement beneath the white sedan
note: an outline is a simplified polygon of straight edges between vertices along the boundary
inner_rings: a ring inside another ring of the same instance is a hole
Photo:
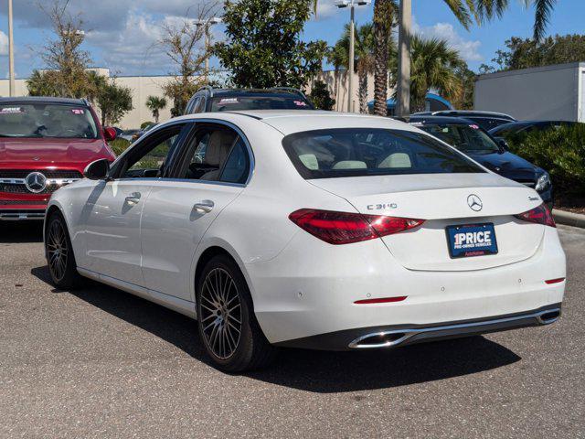
[[[49,283],[47,266],[34,268],[31,273]],[[211,364],[199,342],[196,322],[186,316],[91,281],[87,288],[63,293],[73,294],[164,339],[194,359]],[[368,391],[469,375],[520,359],[511,350],[487,338],[467,337],[369,352],[282,349],[271,367],[248,372],[245,376],[302,391]]]

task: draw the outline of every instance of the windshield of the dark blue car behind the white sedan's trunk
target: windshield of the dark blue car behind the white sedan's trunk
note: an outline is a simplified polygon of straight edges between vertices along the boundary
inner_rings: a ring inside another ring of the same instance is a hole
[[[425,123],[420,129],[464,153],[499,153],[500,147],[478,125],[471,123]]]

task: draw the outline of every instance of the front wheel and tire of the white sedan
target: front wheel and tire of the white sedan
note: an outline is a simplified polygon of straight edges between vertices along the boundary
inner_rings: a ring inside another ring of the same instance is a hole
[[[51,213],[45,231],[45,257],[53,284],[61,289],[72,289],[81,284],[67,224],[60,212]]]

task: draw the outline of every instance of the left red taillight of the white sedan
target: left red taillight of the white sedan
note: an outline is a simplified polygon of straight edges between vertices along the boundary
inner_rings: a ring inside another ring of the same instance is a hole
[[[330,244],[373,240],[420,226],[424,219],[300,209],[289,215],[297,226]]]

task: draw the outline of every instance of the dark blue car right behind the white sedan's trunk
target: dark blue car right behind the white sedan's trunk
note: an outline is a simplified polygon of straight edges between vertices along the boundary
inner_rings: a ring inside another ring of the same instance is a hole
[[[495,173],[533,187],[552,208],[554,194],[547,171],[510,153],[504,140],[495,139],[477,123],[460,117],[427,115],[412,115],[409,122],[455,146]]]

